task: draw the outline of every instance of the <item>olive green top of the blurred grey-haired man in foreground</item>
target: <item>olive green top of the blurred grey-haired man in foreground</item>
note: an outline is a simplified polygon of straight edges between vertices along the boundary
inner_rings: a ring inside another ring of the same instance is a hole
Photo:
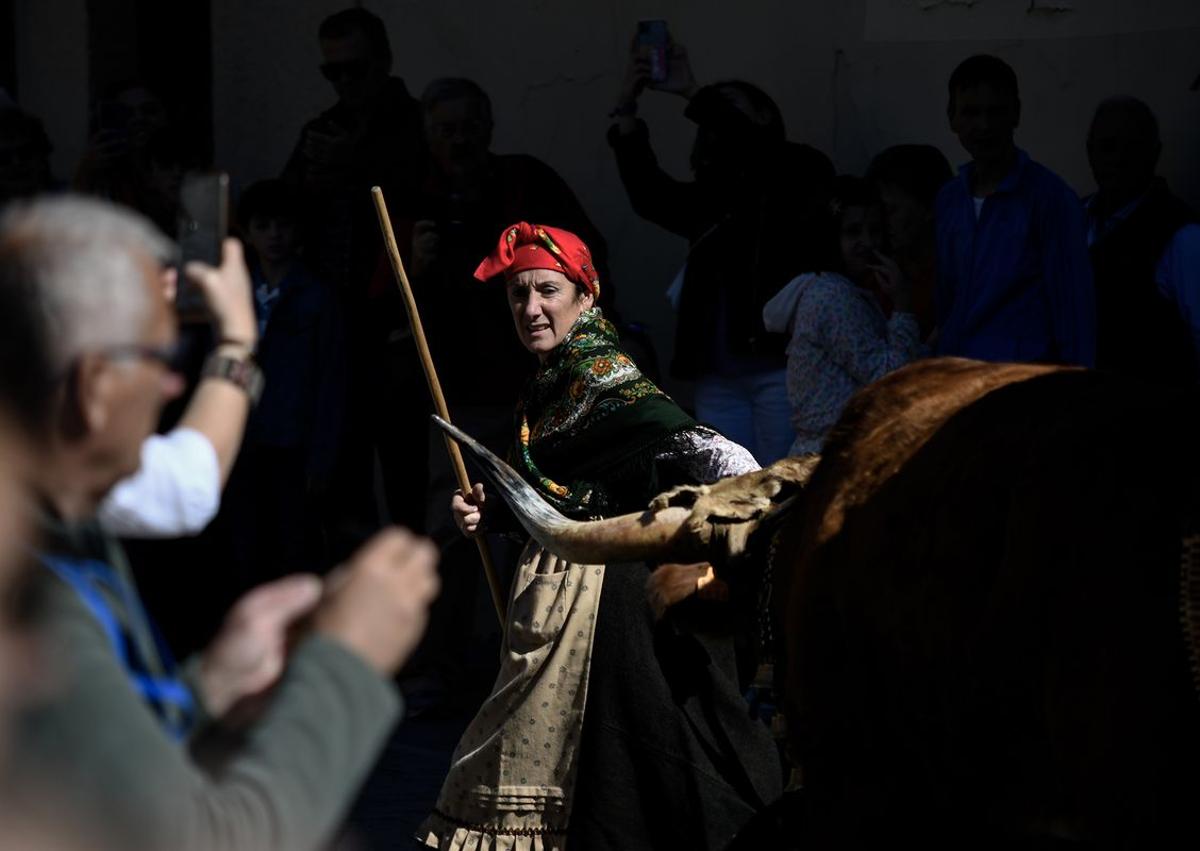
[[[392,683],[336,642],[310,637],[258,720],[202,769],[128,683],[73,593],[47,595],[56,688],[23,719],[20,765],[118,846],[175,851],[323,847],[400,717]]]

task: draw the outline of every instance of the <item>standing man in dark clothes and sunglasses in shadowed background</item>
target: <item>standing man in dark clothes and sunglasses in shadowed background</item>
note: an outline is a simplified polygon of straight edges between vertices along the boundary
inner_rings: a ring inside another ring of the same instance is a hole
[[[420,104],[391,72],[391,47],[380,18],[348,8],[318,30],[320,73],[337,103],[305,125],[281,175],[301,196],[301,241],[306,260],[340,290],[346,306],[348,385],[346,439],[330,503],[344,507],[340,527],[376,522],[372,493],[376,425],[388,416],[378,396],[395,382],[388,340],[407,328],[395,287],[371,287],[383,250],[371,187],[382,186],[392,216],[416,194],[425,162]],[[394,356],[394,355],[391,355]],[[401,367],[403,368],[403,367]],[[425,422],[419,439],[425,439]],[[384,450],[386,451],[386,450]],[[395,502],[395,501],[394,501]],[[424,521],[424,503],[402,501],[392,516]],[[410,503],[410,504],[409,504]]]

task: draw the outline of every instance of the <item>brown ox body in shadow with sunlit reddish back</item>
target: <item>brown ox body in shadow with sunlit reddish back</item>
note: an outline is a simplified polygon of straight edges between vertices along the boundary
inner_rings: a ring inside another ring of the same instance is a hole
[[[959,360],[856,397],[776,541],[797,846],[1195,841],[1196,414],[1096,372]]]

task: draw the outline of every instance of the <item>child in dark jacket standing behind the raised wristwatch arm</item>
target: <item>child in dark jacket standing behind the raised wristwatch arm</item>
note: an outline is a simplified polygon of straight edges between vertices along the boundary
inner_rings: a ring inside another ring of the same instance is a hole
[[[232,514],[240,555],[259,581],[325,567],[322,498],[346,407],[342,311],[300,254],[296,209],[278,180],[250,186],[238,206],[266,384],[247,424]]]

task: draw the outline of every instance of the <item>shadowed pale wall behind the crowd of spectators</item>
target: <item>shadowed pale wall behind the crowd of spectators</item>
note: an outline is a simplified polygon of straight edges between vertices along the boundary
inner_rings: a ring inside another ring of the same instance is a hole
[[[494,100],[496,150],[533,154],[575,188],[610,241],[623,310],[652,324],[665,358],[672,318],[661,293],[685,246],[632,214],[604,139],[638,18],[666,18],[702,82],[744,77],[767,89],[791,137],[839,170],[858,172],[899,142],[930,142],[960,162],[946,79],[960,59],[990,52],[1021,80],[1019,143],[1080,192],[1092,188],[1082,146],[1091,110],[1129,92],[1159,115],[1162,173],[1200,202],[1200,92],[1188,91],[1200,73],[1200,2],[1049,0],[1064,4],[1074,11],[1030,13],[1027,0],[364,5],[388,23],[395,71],[414,94],[434,77],[475,78]],[[316,30],[344,5],[212,0],[216,151],[239,184],[276,174],[300,125],[331,102]],[[684,175],[691,127],[680,112],[666,95],[643,101],[660,158]]]

